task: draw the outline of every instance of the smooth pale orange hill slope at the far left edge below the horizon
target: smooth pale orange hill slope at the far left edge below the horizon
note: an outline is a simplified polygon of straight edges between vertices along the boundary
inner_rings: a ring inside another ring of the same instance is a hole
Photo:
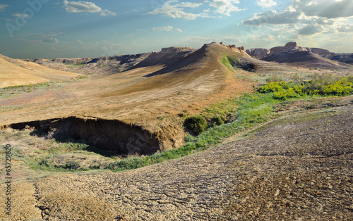
[[[0,87],[69,80],[78,74],[0,55]]]

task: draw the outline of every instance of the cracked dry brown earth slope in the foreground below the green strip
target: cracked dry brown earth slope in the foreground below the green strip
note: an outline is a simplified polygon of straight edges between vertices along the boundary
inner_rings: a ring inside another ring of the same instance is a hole
[[[294,115],[139,170],[18,182],[32,191],[17,192],[28,203],[13,214],[27,220],[352,220],[352,147],[352,105]]]

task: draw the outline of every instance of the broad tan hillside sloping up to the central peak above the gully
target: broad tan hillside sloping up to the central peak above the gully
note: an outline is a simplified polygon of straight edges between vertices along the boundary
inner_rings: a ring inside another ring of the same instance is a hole
[[[225,68],[221,61],[227,56],[246,55],[239,49],[217,43],[205,44],[198,50],[162,50],[124,72],[86,77],[41,91],[10,94],[10,98],[0,100],[3,107],[0,121],[2,125],[11,125],[71,117],[83,122],[112,120],[138,129],[128,130],[131,132],[124,135],[126,142],[121,144],[109,141],[119,136],[107,137],[91,127],[90,132],[81,133],[81,138],[107,140],[106,143],[119,144],[116,151],[131,154],[144,153],[138,151],[143,144],[152,145],[155,151],[179,147],[184,143],[185,132],[183,119],[175,119],[175,115],[186,109],[197,113],[198,108],[252,89],[251,82],[238,80]],[[15,106],[16,111],[13,111]],[[164,117],[160,120],[161,115],[175,120],[163,120]],[[77,130],[84,131],[86,126],[80,125]],[[153,137],[152,143],[148,136]],[[136,142],[131,144],[131,140]]]

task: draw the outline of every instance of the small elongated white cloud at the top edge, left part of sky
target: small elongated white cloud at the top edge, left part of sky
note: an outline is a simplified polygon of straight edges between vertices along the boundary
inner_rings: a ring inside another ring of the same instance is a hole
[[[97,6],[89,1],[67,1],[64,0],[64,8],[68,13],[80,13],[80,12],[88,12],[88,13],[100,13],[102,16],[106,15],[116,15],[116,13],[112,11],[108,11],[107,9],[103,10],[100,6]]]

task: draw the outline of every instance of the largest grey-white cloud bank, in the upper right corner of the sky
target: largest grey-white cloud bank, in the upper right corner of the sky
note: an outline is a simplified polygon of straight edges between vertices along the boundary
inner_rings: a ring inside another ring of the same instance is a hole
[[[258,4],[270,2],[258,0]],[[243,20],[244,25],[267,26],[285,25],[287,30],[294,30],[299,35],[313,35],[317,33],[350,32],[349,24],[337,27],[337,23],[353,17],[352,0],[292,0],[292,4],[283,11],[268,10],[256,13],[253,18]],[[324,32],[326,31],[326,32]]]

